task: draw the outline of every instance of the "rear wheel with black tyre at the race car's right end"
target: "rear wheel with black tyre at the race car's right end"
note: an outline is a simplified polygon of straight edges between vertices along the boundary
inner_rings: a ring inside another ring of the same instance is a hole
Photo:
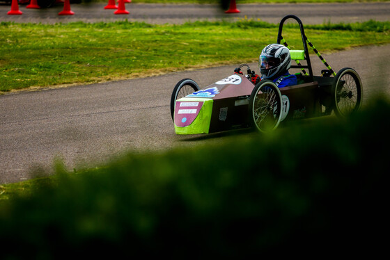
[[[359,74],[350,67],[340,70],[334,77],[331,93],[334,97],[334,113],[338,117],[356,113],[363,98]]]

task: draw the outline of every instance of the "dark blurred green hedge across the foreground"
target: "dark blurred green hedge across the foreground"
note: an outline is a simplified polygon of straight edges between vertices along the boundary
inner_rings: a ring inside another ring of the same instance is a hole
[[[378,100],[348,120],[237,142],[127,154],[0,207],[1,259],[243,259],[380,252],[389,124]]]

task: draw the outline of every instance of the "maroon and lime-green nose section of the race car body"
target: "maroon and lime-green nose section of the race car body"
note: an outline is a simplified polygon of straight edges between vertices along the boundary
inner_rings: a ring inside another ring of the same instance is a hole
[[[190,79],[182,81],[193,84]],[[246,124],[253,84],[240,74],[217,81],[176,100],[176,133],[212,133]]]

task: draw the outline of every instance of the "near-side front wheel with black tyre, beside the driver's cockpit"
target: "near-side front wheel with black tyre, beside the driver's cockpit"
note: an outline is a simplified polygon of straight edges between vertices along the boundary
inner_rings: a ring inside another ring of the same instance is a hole
[[[281,92],[272,81],[260,81],[249,99],[249,124],[263,133],[278,127],[281,121]]]

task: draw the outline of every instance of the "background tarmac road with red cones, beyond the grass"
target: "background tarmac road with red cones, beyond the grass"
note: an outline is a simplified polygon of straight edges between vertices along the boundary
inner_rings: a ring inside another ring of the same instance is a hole
[[[108,1],[107,1],[108,2]],[[137,2],[137,0],[135,0]],[[279,23],[280,17],[297,15],[304,24],[322,24],[324,22],[362,22],[369,19],[388,21],[390,2],[376,3],[289,3],[289,4],[240,4],[237,2],[238,14],[226,14],[217,5],[166,5],[166,4],[126,4],[129,15],[114,15],[114,10],[104,10],[106,3],[89,5],[73,4],[75,15],[59,16],[62,5],[47,9],[27,9],[20,6],[23,15],[7,15],[10,6],[0,6],[0,21],[13,22],[109,22],[129,21],[148,22],[152,24],[191,22],[196,20],[224,19],[235,21],[248,17],[262,19],[265,22]]]

